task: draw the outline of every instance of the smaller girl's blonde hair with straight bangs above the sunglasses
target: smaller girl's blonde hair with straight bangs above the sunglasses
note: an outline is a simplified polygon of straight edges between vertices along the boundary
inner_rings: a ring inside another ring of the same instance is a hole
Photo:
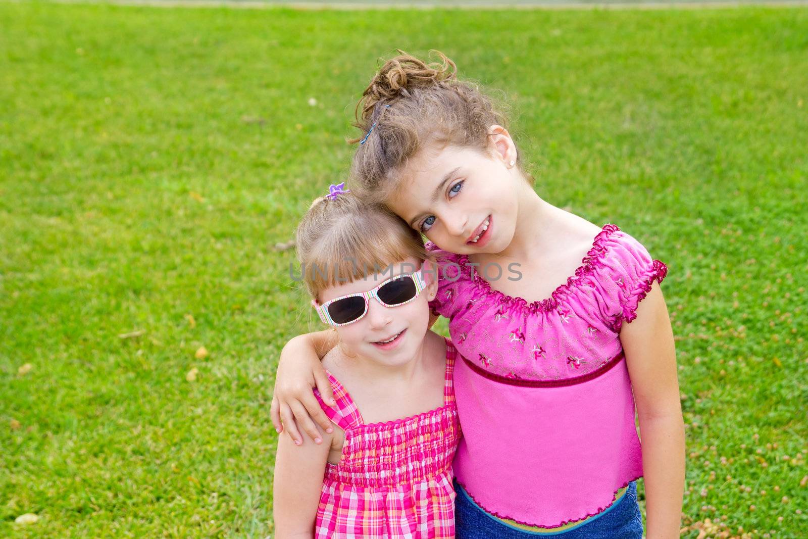
[[[406,259],[436,261],[421,234],[401,217],[353,192],[314,200],[295,240],[302,280],[314,299],[335,284],[364,279]]]

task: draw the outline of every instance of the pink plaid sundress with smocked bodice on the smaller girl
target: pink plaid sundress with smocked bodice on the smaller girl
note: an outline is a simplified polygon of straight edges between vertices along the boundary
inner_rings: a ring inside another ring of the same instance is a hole
[[[331,373],[328,379],[339,410],[326,406],[314,390],[326,415],[345,431],[339,464],[326,463],[314,526],[317,539],[455,537],[452,458],[461,437],[452,384],[457,350],[445,340],[440,408],[365,424]]]

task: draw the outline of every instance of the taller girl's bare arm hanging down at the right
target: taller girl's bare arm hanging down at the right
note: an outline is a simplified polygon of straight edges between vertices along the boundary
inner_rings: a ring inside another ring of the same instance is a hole
[[[680,537],[684,495],[684,421],[676,354],[659,284],[640,302],[620,339],[637,402],[646,487],[647,539]]]

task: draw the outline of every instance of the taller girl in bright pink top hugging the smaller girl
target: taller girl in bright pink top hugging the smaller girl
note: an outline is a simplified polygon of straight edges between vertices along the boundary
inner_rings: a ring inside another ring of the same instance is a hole
[[[542,200],[503,116],[440,57],[395,57],[372,79],[352,174],[448,258],[431,306],[461,354],[457,537],[639,538],[641,476],[648,539],[679,537],[684,423],[657,284],[667,267],[617,226]],[[299,387],[328,401],[317,349],[329,341],[284,347],[271,412],[290,436],[292,417],[307,432],[323,421]]]

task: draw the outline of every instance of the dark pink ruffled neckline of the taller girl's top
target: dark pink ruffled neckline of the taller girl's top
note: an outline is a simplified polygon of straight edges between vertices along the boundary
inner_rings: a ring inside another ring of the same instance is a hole
[[[452,255],[457,257],[457,265],[461,267],[461,276],[476,285],[478,290],[480,290],[486,297],[489,297],[494,301],[498,301],[502,305],[508,307],[512,306],[516,309],[528,311],[530,313],[548,312],[558,308],[562,298],[566,297],[572,290],[574,290],[574,288],[576,288],[576,285],[581,277],[594,272],[595,268],[600,266],[600,259],[603,258],[603,255],[607,251],[605,243],[608,238],[616,232],[620,232],[617,225],[604,225],[604,227],[600,229],[600,232],[592,241],[591,248],[581,260],[581,265],[575,270],[573,275],[567,278],[566,283],[560,284],[557,288],[555,288],[555,290],[550,293],[550,297],[542,300],[531,301],[529,303],[524,299],[524,297],[509,296],[504,292],[491,288],[491,284],[479,276],[478,272],[473,270],[473,266],[469,265],[469,255],[457,255],[453,253]]]

